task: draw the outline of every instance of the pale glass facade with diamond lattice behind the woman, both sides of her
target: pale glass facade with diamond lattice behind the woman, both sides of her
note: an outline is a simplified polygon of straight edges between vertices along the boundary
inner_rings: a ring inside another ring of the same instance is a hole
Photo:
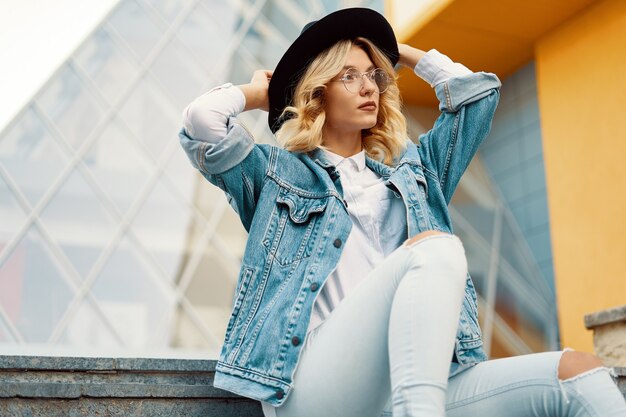
[[[0,132],[0,350],[217,357],[246,233],[180,148],[182,110],[348,6],[383,1],[121,0]],[[240,118],[274,143],[266,117]],[[504,353],[544,349],[553,299],[476,166],[453,217],[486,334]]]

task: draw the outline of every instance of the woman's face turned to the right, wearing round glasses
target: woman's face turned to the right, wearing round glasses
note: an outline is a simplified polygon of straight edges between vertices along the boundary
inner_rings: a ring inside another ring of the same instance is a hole
[[[376,68],[367,53],[358,46],[352,45],[344,68],[326,88],[326,121],[324,127],[337,133],[348,133],[369,129],[376,125],[378,116],[378,100],[380,94],[376,84],[367,77],[362,77],[363,86],[352,93],[339,80],[348,68],[356,68],[363,74]],[[358,84],[357,84],[358,85]],[[364,106],[366,103],[368,105]]]

